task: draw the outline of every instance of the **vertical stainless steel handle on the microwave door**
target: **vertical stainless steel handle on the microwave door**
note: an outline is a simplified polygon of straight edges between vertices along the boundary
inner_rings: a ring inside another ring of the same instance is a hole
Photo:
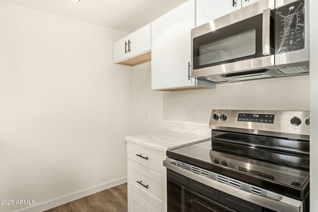
[[[263,56],[270,55],[270,8],[263,10]]]

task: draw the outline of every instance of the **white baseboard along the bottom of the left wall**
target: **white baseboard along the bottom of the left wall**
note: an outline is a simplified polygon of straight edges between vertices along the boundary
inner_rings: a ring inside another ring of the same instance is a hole
[[[103,190],[106,190],[109,188],[112,188],[114,186],[118,186],[118,185],[123,184],[123,183],[127,183],[127,177],[122,177],[122,178],[119,178],[119,179],[116,179],[116,180],[113,180],[113,181],[110,181],[107,183],[103,183],[103,184],[98,185],[98,186],[91,187],[89,189],[85,189],[85,190],[82,190],[82,191],[79,191],[79,192],[76,192],[76,193],[73,193],[70,195],[66,195],[66,196],[51,200],[51,201],[47,201],[45,203],[40,203],[40,204],[34,205],[32,207],[16,211],[16,212],[43,212],[43,211],[55,208],[57,206],[72,202],[74,200],[78,200],[80,198],[95,194],[97,192],[100,192],[100,191],[103,191]]]

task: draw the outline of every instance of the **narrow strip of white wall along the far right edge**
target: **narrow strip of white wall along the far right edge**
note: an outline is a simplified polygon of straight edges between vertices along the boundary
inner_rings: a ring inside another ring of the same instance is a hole
[[[310,194],[311,212],[318,212],[318,1],[310,0]]]

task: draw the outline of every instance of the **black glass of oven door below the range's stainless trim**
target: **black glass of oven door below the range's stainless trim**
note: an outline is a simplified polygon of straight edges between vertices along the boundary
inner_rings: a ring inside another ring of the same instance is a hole
[[[274,212],[167,169],[168,212]]]

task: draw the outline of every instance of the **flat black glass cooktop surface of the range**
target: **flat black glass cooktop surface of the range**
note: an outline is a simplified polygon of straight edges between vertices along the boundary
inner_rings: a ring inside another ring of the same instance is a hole
[[[167,156],[300,199],[309,189],[306,156],[211,140],[168,150]]]

